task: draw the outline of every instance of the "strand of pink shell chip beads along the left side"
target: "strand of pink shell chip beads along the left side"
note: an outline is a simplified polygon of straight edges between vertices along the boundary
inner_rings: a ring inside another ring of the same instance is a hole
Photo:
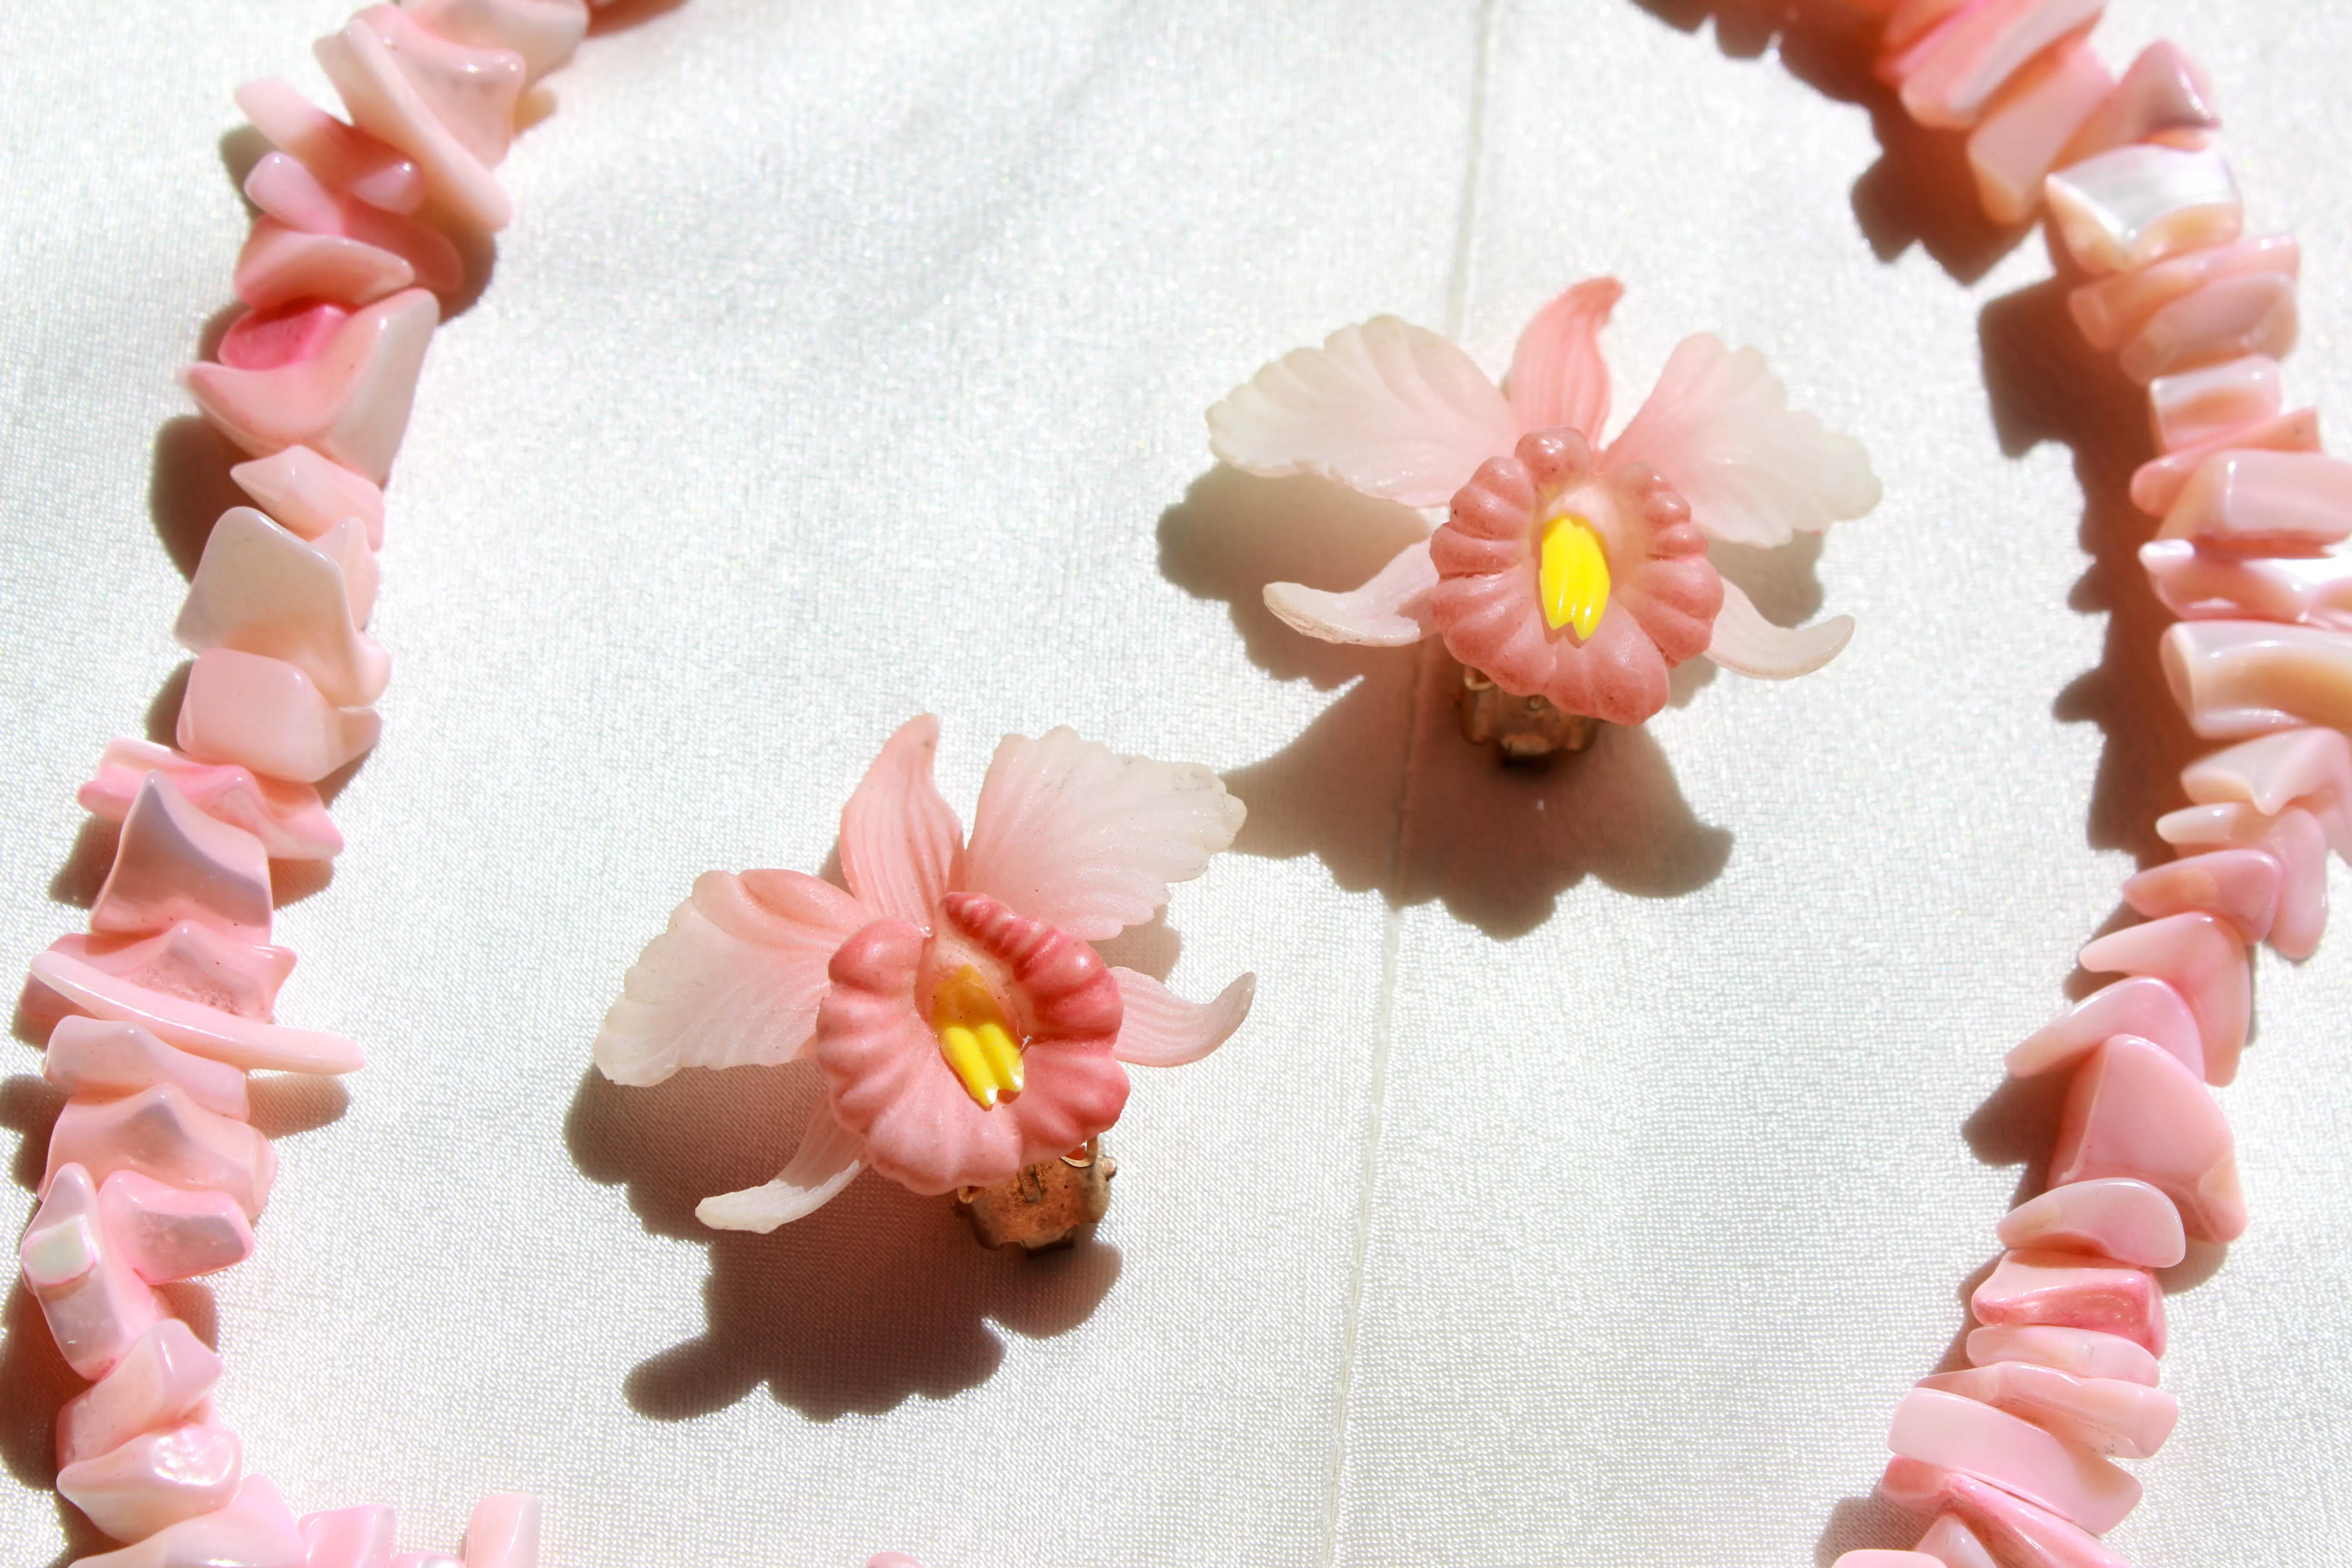
[[[393,1509],[296,1519],[245,1474],[214,1410],[221,1359],[167,1288],[254,1251],[278,1157],[247,1074],[362,1063],[273,1023],[294,954],[270,945],[273,863],[343,839],[318,783],[376,741],[390,677],[367,635],[383,480],[440,296],[466,280],[452,233],[501,228],[489,169],[532,85],[588,31],[583,0],[402,0],[318,42],[350,120],[294,87],[238,92],[278,150],[245,181],[247,306],[188,374],[252,461],[254,498],[212,529],[174,635],[195,654],[176,748],[115,741],[82,804],[118,820],[89,931],[33,959],[66,1093],[19,1260],[66,1363],[92,1382],[59,1413],[56,1490],[129,1542],[89,1568],[532,1568],[539,1505],[492,1495],[463,1559],[393,1556]]]

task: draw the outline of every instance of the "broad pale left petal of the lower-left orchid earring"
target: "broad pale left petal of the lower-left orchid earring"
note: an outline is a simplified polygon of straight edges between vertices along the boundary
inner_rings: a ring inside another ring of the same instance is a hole
[[[868,919],[800,872],[703,872],[621,980],[595,1065],[614,1084],[659,1084],[680,1067],[793,1060],[833,950]]]

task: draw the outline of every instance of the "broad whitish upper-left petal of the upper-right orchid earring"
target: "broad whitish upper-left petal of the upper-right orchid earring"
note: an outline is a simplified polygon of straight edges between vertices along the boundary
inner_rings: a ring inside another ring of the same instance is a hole
[[[1244,473],[1312,473],[1404,505],[1444,505],[1517,435],[1470,355],[1392,315],[1275,360],[1209,409],[1209,447]]]

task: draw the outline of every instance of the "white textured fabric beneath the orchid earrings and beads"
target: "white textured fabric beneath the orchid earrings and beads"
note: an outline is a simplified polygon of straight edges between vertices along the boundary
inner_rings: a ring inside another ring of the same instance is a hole
[[[1903,1544],[1867,1502],[1884,1422],[2046,1140],[1999,1056],[2063,1006],[2187,750],[2129,548],[2140,414],[2072,367],[2044,247],[1955,216],[1950,143],[1879,115],[1882,146],[1835,71],[1710,9],[691,0],[553,78],[390,487],[350,851],[278,926],[282,1018],[374,1058],[348,1103],[256,1093],[285,1168],[212,1309],[223,1420],[296,1509],[393,1502],[447,1549],[480,1493],[536,1490],[567,1568]],[[0,7],[9,961],[80,926],[103,839],[73,788],[141,733],[230,503],[174,383],[242,235],[228,92],[322,92],[341,16]],[[2305,240],[2288,378],[2340,414],[2352,28],[2119,0],[2100,38],[2157,35]],[[1432,656],[1261,607],[1404,536],[1214,470],[1202,409],[1383,310],[1501,371],[1599,270],[1630,284],[1621,407],[1689,331],[1755,343],[1886,503],[1726,557],[1780,621],[1860,621],[1825,672],[1693,665],[1646,733],[1505,776]],[[1251,809],[1110,947],[1192,997],[1261,985],[1216,1058],[1138,1072],[1075,1255],[983,1255],[870,1175],[703,1232],[804,1084],[588,1072],[694,875],[816,870],[922,708],[967,813],[997,736],[1051,724]],[[2225,1091],[2253,1232],[2173,1276],[2187,1413],[2114,1533],[2140,1568],[2345,1556],[2347,1004],[2345,931],[2263,959]],[[19,1182],[35,1063],[0,1086]],[[96,1547],[47,1490],[64,1389],[16,1295],[9,1561]]]

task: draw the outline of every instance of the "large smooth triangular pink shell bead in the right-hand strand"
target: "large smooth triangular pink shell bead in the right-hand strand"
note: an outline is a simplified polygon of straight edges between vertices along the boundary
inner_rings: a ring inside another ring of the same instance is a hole
[[[2074,1074],[2051,1150],[2051,1185],[2143,1180],[2199,1241],[2246,1234],[2237,1140],[2220,1105],[2176,1058],[2122,1034]]]

